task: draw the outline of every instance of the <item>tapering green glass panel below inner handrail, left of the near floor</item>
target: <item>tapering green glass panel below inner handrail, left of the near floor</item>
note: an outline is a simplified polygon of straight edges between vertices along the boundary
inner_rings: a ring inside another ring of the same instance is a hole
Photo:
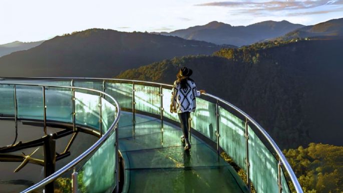
[[[112,192],[111,190],[116,185],[115,136],[116,134],[113,132],[79,169],[78,181],[81,183],[79,184],[79,187],[81,186],[80,192]]]

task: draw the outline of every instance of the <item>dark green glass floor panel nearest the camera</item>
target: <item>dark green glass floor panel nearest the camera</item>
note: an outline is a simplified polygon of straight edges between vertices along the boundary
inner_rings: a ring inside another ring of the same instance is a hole
[[[230,166],[130,170],[128,192],[247,192],[237,184]]]

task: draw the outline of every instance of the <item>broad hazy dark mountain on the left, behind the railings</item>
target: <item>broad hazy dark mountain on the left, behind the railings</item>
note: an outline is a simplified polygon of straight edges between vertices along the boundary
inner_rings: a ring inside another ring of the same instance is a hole
[[[1,57],[0,76],[111,77],[163,59],[211,54],[221,48],[178,37],[91,29]]]

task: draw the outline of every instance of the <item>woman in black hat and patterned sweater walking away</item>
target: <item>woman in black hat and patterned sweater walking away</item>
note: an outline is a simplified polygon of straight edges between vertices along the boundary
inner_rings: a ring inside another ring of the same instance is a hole
[[[196,100],[200,94],[205,93],[204,90],[198,91],[195,83],[189,77],[192,75],[192,70],[182,67],[177,73],[177,80],[174,82],[172,89],[172,97],[170,104],[170,112],[178,113],[181,122],[183,136],[182,142],[185,142],[185,150],[191,148],[188,140],[188,121],[190,113],[195,111]]]

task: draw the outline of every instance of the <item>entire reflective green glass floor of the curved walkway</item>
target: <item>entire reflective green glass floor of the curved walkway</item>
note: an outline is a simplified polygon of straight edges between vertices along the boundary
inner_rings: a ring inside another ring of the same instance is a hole
[[[184,151],[180,127],[123,112],[119,148],[125,161],[123,192],[248,192],[236,171],[217,152],[192,136]],[[133,134],[134,133],[134,134]]]

